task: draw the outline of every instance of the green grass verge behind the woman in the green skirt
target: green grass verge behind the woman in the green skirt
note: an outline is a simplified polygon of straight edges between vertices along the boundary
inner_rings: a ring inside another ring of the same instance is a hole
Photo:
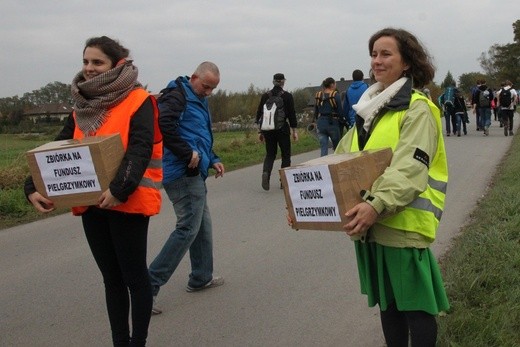
[[[487,193],[440,260],[451,308],[438,319],[439,346],[520,346],[519,174],[515,137]]]

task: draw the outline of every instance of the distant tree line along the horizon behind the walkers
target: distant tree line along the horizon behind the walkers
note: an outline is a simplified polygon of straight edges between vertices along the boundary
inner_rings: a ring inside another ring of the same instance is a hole
[[[520,19],[514,22],[512,27],[512,43],[494,44],[478,58],[483,73],[469,72],[459,76],[457,86],[463,93],[470,95],[477,79],[484,79],[488,86],[497,89],[505,80],[510,80],[514,86],[518,86],[520,83]],[[448,71],[440,86],[431,83],[427,87],[435,101],[444,87],[454,83],[455,79]],[[209,98],[213,121],[242,124],[252,122],[256,116],[260,97],[266,91],[267,89],[260,89],[252,84],[245,92],[218,90]],[[294,96],[296,112],[300,115],[305,114],[307,104],[312,98],[310,91],[299,88],[291,92]],[[49,103],[73,105],[70,84],[52,82],[38,90],[25,93],[22,97],[0,98],[0,133],[3,132],[3,126],[18,125],[23,119],[25,110]]]

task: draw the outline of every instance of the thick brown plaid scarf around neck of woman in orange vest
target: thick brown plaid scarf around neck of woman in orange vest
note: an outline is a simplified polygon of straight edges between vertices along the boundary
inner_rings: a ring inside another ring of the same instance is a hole
[[[108,110],[123,101],[135,88],[137,67],[131,60],[117,65],[90,80],[80,71],[72,80],[71,90],[76,112],[76,124],[85,136],[92,136],[106,121]]]

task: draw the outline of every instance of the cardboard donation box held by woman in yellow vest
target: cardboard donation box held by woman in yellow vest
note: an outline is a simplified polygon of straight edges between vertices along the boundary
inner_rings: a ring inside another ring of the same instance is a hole
[[[390,165],[384,148],[331,154],[280,170],[293,229],[343,231],[345,212],[363,201],[360,192]]]

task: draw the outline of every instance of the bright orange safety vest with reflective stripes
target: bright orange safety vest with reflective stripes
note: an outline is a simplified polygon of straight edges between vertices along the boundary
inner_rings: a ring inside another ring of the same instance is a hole
[[[123,148],[126,151],[128,147],[128,134],[130,132],[130,121],[147,98],[150,98],[150,94],[144,89],[134,89],[131,91],[125,100],[108,111],[109,115],[105,123],[101,125],[93,135],[119,133],[123,142]],[[152,158],[136,190],[130,194],[125,203],[112,207],[110,208],[111,210],[153,216],[158,214],[161,209],[161,192],[159,188],[162,182],[162,135],[159,130],[159,109],[157,102],[154,97],[151,97],[151,100],[153,101],[155,124]],[[74,113],[74,119],[75,118],[76,113]],[[76,123],[74,139],[84,137],[85,135],[78,128]],[[79,216],[84,213],[87,208],[87,206],[73,207],[72,213]]]

